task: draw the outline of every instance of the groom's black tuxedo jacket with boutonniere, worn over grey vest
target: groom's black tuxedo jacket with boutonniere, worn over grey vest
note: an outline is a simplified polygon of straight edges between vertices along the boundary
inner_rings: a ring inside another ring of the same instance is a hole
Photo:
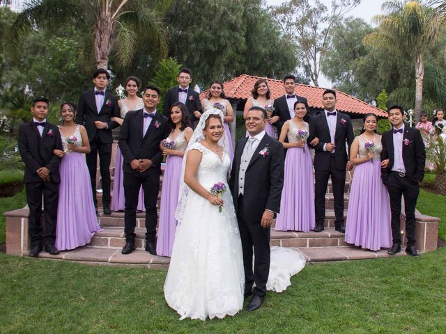
[[[242,138],[236,143],[231,178],[229,179],[229,188],[236,211],[238,209],[240,159],[248,138]],[[259,154],[264,148],[268,148],[266,157]],[[279,213],[283,186],[284,148],[279,141],[265,134],[252,154],[245,173],[243,200],[245,207],[249,208],[245,212],[247,221],[261,221],[265,209]]]

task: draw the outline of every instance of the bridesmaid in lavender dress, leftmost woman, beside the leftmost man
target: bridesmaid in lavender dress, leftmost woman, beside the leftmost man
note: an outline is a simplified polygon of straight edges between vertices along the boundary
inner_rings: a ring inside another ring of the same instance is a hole
[[[56,248],[74,249],[89,244],[101,230],[95,213],[89,168],[82,154],[90,152],[89,137],[82,125],[75,124],[76,107],[70,102],[61,105],[63,123],[59,126],[62,150],[54,154],[62,158],[57,207]]]

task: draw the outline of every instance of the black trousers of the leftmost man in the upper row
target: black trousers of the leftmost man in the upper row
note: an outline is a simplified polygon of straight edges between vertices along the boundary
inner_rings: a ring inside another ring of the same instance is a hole
[[[96,169],[98,168],[98,153],[99,153],[99,170],[102,178],[102,203],[110,205],[110,161],[112,160],[112,144],[102,143],[99,132],[93,141],[90,141],[90,153],[86,154],[86,166],[89,167],[91,189],[93,190],[93,201],[95,206],[98,206],[96,200]]]

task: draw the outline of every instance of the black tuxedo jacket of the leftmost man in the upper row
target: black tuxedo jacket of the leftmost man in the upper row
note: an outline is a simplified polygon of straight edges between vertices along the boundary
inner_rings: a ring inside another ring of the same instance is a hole
[[[102,143],[113,143],[112,129],[118,127],[118,123],[110,120],[112,117],[121,117],[118,102],[116,97],[105,91],[104,104],[98,113],[96,108],[95,91],[94,89],[86,90],[79,97],[77,103],[76,122],[84,125],[86,133],[89,136],[89,141],[94,141],[96,132],[99,133]],[[108,129],[98,129],[95,126],[95,121],[100,120],[106,122]]]

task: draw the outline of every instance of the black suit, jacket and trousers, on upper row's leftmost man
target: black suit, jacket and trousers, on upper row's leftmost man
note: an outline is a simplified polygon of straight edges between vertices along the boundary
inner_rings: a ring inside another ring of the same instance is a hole
[[[112,159],[112,129],[118,127],[117,122],[112,122],[112,117],[121,117],[118,102],[114,95],[105,92],[104,104],[98,113],[95,100],[95,91],[86,90],[82,93],[77,104],[77,124],[84,125],[90,141],[90,153],[86,154],[86,164],[89,167],[91,178],[91,189],[93,190],[93,200],[96,200],[96,168],[98,166],[102,177],[102,202],[104,205],[110,205],[110,160]],[[107,123],[107,129],[98,129],[95,121]]]

